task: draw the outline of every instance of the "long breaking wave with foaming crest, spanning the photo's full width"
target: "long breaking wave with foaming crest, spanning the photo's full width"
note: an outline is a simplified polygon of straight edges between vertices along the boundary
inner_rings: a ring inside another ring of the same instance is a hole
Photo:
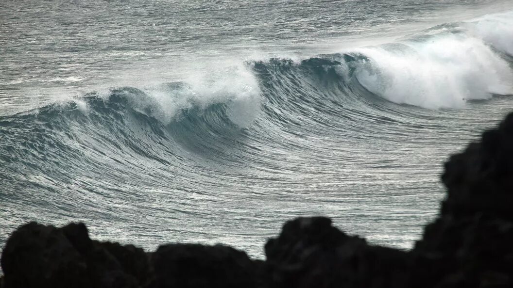
[[[63,150],[72,148],[70,139],[82,139],[82,149],[136,152],[161,163],[177,155],[173,149],[233,159],[227,147],[241,137],[287,141],[341,127],[368,137],[380,130],[377,125],[422,114],[397,104],[464,108],[468,100],[513,94],[511,27],[512,12],[487,15],[392,44],[301,61],[249,61],[215,73],[198,71],[184,81],[64,98],[1,116],[0,133],[18,150],[0,156],[29,155],[19,137],[34,147],[46,143],[41,145]]]

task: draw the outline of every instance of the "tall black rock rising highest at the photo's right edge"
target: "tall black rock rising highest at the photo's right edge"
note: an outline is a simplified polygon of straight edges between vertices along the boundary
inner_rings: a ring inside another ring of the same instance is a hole
[[[413,287],[513,287],[513,114],[445,164],[447,199],[411,252]]]

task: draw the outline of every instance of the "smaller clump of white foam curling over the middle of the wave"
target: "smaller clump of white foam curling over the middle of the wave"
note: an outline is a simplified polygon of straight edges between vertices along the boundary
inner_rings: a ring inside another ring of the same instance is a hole
[[[142,90],[149,99],[133,99],[132,107],[152,107],[152,116],[165,124],[184,110],[206,109],[214,104],[227,104],[230,120],[241,128],[248,127],[260,112],[258,81],[249,68],[208,66],[185,76],[184,85],[154,85]]]

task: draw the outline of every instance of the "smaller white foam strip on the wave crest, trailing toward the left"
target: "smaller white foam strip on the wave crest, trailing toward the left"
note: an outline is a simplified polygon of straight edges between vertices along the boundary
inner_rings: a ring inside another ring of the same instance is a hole
[[[261,95],[258,81],[243,63],[228,67],[209,67],[185,75],[183,81],[137,88],[113,87],[94,94],[108,100],[113,91],[126,97],[137,112],[154,117],[164,125],[191,109],[205,110],[216,104],[226,105],[229,119],[246,128],[260,112]],[[74,103],[78,110],[88,112],[88,103],[80,95],[56,93],[53,102],[69,108]]]

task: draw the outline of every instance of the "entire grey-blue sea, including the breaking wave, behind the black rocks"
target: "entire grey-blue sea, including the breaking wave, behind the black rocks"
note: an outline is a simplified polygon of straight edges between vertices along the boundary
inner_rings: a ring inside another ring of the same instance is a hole
[[[84,221],[264,258],[287,220],[410,248],[513,110],[513,1],[0,2],[0,249]]]

